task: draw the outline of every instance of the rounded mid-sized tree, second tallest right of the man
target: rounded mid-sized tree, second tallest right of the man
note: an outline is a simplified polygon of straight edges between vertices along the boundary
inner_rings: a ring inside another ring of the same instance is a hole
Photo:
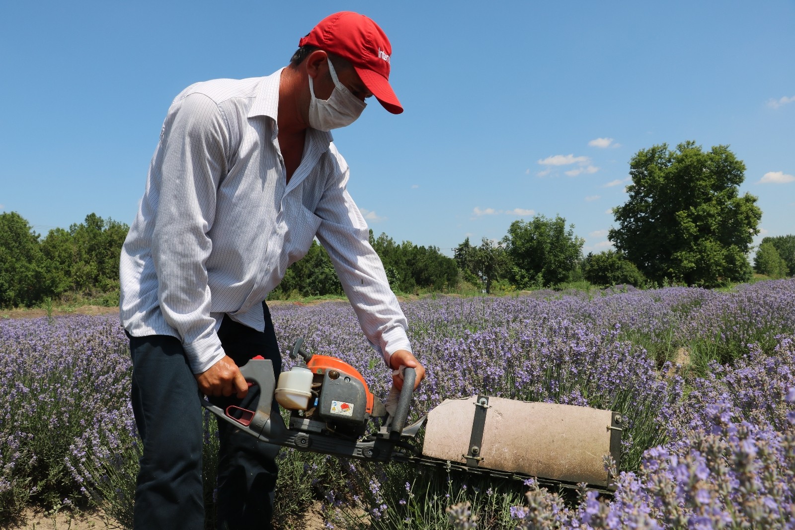
[[[574,235],[573,224],[566,229],[563,217],[548,219],[539,214],[528,222],[511,223],[502,242],[512,262],[511,281],[526,289],[567,281],[582,255],[585,240]]]

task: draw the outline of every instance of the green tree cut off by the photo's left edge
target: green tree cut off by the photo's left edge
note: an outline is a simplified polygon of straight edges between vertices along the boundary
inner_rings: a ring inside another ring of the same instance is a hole
[[[0,307],[32,306],[44,278],[39,234],[17,212],[0,213]]]

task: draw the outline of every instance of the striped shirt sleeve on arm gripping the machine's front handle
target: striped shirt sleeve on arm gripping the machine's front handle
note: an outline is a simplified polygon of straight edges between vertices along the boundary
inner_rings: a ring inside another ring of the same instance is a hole
[[[347,193],[347,180],[344,166],[324,190],[315,210],[322,219],[317,239],[334,264],[367,340],[389,365],[398,349],[411,351],[408,324],[381,259],[370,245],[364,217]]]

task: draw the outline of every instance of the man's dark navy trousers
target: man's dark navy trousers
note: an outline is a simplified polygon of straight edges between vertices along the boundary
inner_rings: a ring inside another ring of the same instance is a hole
[[[281,356],[270,312],[264,302],[262,306],[264,332],[224,317],[218,336],[224,352],[238,366],[262,355],[273,362],[277,377]],[[178,339],[167,335],[130,337],[130,355],[131,398],[144,446],[135,490],[134,528],[203,530],[203,409],[184,349]],[[254,410],[258,397],[254,386],[242,400],[232,396],[211,401],[222,408],[237,404]],[[278,414],[275,399],[273,413]],[[226,422],[219,422],[218,427],[216,528],[271,528],[279,447],[258,442]]]

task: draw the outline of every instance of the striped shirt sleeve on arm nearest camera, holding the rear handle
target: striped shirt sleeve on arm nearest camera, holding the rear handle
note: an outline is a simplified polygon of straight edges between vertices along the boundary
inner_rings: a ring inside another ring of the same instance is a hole
[[[229,132],[218,105],[202,94],[173,104],[161,134],[153,172],[160,185],[152,257],[165,321],[182,341],[192,372],[225,355],[211,317],[207,236],[216,189],[227,173]]]

